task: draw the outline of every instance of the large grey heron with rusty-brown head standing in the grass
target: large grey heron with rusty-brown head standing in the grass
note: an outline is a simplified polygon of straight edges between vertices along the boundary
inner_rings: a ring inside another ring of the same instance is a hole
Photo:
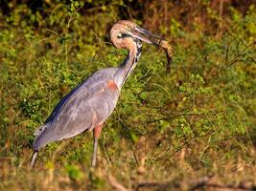
[[[141,41],[165,50],[168,47],[167,41],[126,20],[117,22],[111,28],[110,40],[116,48],[128,50],[126,60],[118,67],[102,69],[92,74],[58,102],[45,123],[35,131],[31,166],[35,164],[39,149],[46,144],[93,130],[94,150],[91,165],[94,167],[98,138],[105,120],[116,107],[124,83],[137,65],[141,54]]]

